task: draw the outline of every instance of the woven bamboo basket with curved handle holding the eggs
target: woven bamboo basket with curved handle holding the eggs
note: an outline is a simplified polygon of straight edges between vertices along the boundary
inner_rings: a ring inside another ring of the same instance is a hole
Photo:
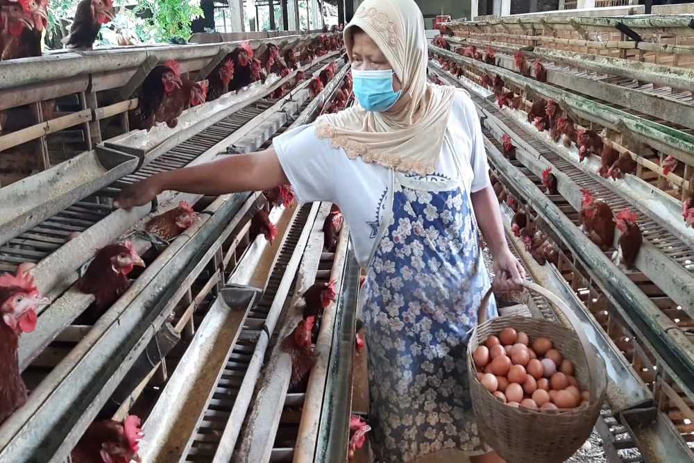
[[[555,294],[530,282],[523,286],[544,296],[561,310],[573,330],[542,319],[498,317],[486,320],[486,305],[491,289],[480,305],[477,325],[468,344],[468,380],[477,430],[507,463],[559,463],[573,455],[588,439],[600,414],[607,388],[607,371],[602,358],[581,330],[581,323],[570,308]],[[532,339],[545,336],[574,364],[574,375],[581,390],[589,391],[588,403],[572,410],[542,412],[502,403],[477,380],[473,361],[475,348],[489,335],[498,335],[511,327],[524,331]]]

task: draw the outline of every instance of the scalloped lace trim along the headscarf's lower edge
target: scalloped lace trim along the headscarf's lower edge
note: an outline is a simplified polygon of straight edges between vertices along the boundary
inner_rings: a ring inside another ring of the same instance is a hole
[[[396,154],[375,153],[359,142],[337,135],[337,129],[325,123],[316,126],[316,137],[320,140],[329,138],[332,142],[332,147],[344,149],[347,157],[350,159],[356,159],[361,156],[364,162],[378,164],[383,167],[392,167],[400,172],[412,172],[420,176],[427,176],[433,174],[436,168],[434,162],[427,165],[421,161],[405,160]]]

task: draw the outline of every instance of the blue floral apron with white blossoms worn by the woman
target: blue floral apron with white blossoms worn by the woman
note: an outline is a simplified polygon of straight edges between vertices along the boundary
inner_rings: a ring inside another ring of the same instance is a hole
[[[459,179],[391,170],[389,203],[363,299],[371,448],[378,462],[398,463],[443,448],[486,453],[466,347],[490,282],[470,195]],[[498,316],[493,298],[488,311]]]

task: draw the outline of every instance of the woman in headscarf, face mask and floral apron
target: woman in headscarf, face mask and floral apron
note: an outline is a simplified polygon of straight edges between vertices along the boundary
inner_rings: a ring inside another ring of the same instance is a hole
[[[368,269],[376,457],[412,462],[450,448],[500,462],[477,437],[466,376],[466,342],[489,288],[477,223],[498,289],[518,287],[523,269],[505,241],[477,112],[465,92],[427,83],[414,1],[364,1],[344,37],[357,107],[288,131],[266,151],[152,176],[118,203],[142,205],[163,190],[216,195],[282,183],[300,202],[337,203]]]

